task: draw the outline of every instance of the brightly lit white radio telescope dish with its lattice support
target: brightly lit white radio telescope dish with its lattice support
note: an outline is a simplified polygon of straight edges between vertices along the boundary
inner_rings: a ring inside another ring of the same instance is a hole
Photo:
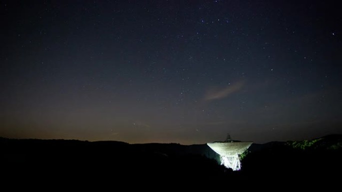
[[[248,149],[252,142],[215,142],[207,145],[220,156],[221,165],[233,171],[241,169],[239,155]]]

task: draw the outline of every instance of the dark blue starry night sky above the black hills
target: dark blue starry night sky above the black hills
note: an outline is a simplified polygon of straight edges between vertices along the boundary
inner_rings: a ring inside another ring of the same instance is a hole
[[[0,136],[202,144],[342,133],[337,2],[0,1]]]

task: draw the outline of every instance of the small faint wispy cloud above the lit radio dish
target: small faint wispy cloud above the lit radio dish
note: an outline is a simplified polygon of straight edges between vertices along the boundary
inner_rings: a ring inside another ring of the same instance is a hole
[[[209,90],[204,97],[205,101],[215,100],[215,99],[222,99],[227,97],[228,95],[237,92],[243,87],[244,83],[242,81],[236,82],[232,85],[229,85],[223,89],[212,89]]]

